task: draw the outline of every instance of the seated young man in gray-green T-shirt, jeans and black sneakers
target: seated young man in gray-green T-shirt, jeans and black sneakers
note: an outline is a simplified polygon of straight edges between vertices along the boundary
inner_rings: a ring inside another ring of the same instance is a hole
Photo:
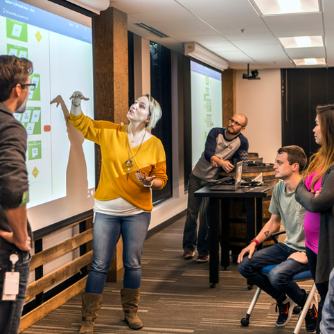
[[[240,252],[238,270],[250,282],[276,299],[276,312],[279,310],[276,326],[285,326],[295,305],[303,308],[308,297],[306,291],[291,280],[295,274],[308,270],[303,225],[306,211],[295,200],[295,189],[307,159],[304,150],[299,146],[285,146],[277,153],[275,177],[282,181],[276,184],[272,192],[269,208],[272,216],[256,238]],[[286,232],[284,243],[255,252],[256,246],[279,229],[281,220]],[[246,254],[248,256],[245,256]],[[269,276],[261,274],[263,267],[274,264],[277,266],[270,271]],[[315,296],[311,302],[306,315],[307,333],[314,333],[316,330],[316,298]]]

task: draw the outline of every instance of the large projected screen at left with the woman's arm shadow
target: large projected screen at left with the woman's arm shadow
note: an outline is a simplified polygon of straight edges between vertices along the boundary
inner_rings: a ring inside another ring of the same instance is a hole
[[[85,197],[93,197],[94,143],[68,120],[76,90],[90,98],[82,111],[94,118],[91,28],[20,1],[0,4],[0,53],[28,58],[34,66],[36,87],[26,112],[14,114],[28,134],[28,208],[66,197],[82,179]]]

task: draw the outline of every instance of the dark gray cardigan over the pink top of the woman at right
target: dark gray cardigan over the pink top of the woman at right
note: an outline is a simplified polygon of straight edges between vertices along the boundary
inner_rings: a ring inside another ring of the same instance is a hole
[[[303,179],[297,186],[295,196],[307,211],[320,213],[315,282],[328,282],[334,267],[334,166],[322,175],[322,192],[317,197],[307,190]]]

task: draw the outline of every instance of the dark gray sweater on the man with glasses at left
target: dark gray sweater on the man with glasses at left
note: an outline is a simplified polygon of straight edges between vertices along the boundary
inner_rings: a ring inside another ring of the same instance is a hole
[[[24,127],[12,116],[11,110],[0,103],[0,229],[3,231],[11,231],[4,209],[15,209],[28,202],[26,140]],[[28,220],[27,228],[33,241]],[[18,250],[1,237],[0,249]]]

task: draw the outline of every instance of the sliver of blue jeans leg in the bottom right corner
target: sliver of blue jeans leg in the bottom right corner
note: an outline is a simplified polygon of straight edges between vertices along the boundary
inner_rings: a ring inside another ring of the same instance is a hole
[[[322,308],[320,331],[322,334],[334,333],[334,269],[329,275],[328,292]]]

